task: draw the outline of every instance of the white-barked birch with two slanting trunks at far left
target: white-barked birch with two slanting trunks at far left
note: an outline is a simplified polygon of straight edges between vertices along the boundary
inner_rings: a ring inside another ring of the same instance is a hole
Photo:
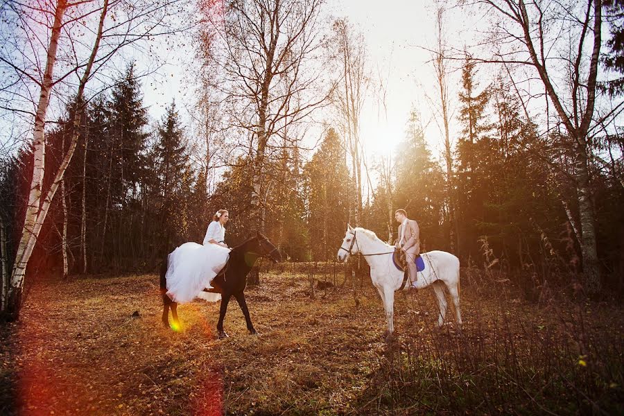
[[[3,24],[10,26],[12,36],[3,39],[7,42],[0,53],[1,68],[9,73],[0,87],[1,109],[31,115],[34,157],[24,225],[12,266],[8,302],[3,306],[10,318],[17,318],[19,313],[28,261],[51,202],[76,150],[84,112],[81,103],[85,103],[87,83],[96,73],[104,71],[111,58],[124,46],[156,35],[166,15],[166,6],[170,4],[171,1],[57,0],[49,3],[8,2],[3,5],[6,6]],[[110,14],[113,16],[107,19]],[[91,30],[89,27],[96,29]],[[43,58],[42,62],[40,58]],[[60,69],[59,74],[55,73],[57,67]],[[65,89],[65,92],[73,90],[77,104],[71,120],[73,133],[69,148],[62,156],[58,170],[50,173],[53,180],[44,192],[45,129],[55,89]],[[36,92],[38,98],[32,103],[34,111],[31,112],[24,103],[27,103],[33,92]],[[19,107],[20,104],[24,106]]]

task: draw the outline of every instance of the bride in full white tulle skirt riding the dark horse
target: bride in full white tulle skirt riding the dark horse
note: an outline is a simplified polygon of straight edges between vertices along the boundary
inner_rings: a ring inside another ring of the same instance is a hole
[[[230,248],[225,244],[227,209],[219,209],[208,226],[204,243],[184,243],[167,260],[167,295],[177,303],[191,302],[225,266]]]

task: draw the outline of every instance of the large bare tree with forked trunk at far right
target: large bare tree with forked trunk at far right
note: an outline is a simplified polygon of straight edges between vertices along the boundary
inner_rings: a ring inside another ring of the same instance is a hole
[[[535,74],[564,125],[575,156],[574,178],[580,218],[584,286],[600,291],[596,218],[591,200],[589,161],[596,125],[621,112],[622,103],[596,116],[598,64],[603,47],[603,1],[476,1],[494,17],[494,57],[528,67]]]

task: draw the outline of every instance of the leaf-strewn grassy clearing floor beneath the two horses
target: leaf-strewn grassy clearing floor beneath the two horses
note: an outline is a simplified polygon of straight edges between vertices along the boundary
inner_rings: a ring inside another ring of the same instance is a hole
[[[262,274],[246,292],[261,336],[231,302],[230,338],[216,340],[218,303],[179,306],[180,331],[162,326],[155,275],[42,281],[0,327],[0,414],[622,414],[616,302],[462,287],[458,336],[435,330],[431,291],[399,293],[386,343],[370,281],[358,306],[351,288],[310,288]]]

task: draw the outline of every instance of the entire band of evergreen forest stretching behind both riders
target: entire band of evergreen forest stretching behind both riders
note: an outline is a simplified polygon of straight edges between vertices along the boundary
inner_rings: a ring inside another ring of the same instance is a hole
[[[423,250],[448,250],[464,265],[515,271],[523,279],[579,273],[579,218],[573,214],[578,210],[569,173],[573,155],[557,146],[557,135],[564,133],[540,139],[536,126],[523,121],[521,105],[504,83],[477,93],[478,89],[474,65],[467,61],[460,92],[463,130],[453,154],[452,187],[413,110],[406,137],[390,162],[392,182],[379,182],[365,201],[358,225],[388,240],[388,228],[394,233],[397,228],[390,222],[392,214],[401,207],[418,220]],[[51,170],[67,148],[72,107],[47,137],[46,168]],[[59,275],[63,253],[65,273],[70,274],[154,270],[176,245],[201,242],[212,214],[222,207],[232,217],[228,242],[247,236],[252,191],[248,157],[237,159],[208,195],[208,172],[191,163],[175,103],[150,128],[132,66],[110,95],[99,96],[87,109],[79,150],[37,241],[33,272]],[[624,150],[622,137],[605,140],[595,140],[597,154],[614,146]],[[3,162],[8,252],[15,252],[32,158],[25,149]],[[354,221],[356,211],[347,159],[344,139],[331,128],[307,162],[299,148],[288,146],[267,159],[263,229],[292,261],[336,256],[345,224]],[[624,188],[598,164],[601,159],[594,160],[598,252],[607,281],[621,286],[624,214],[619,207]],[[371,173],[374,169],[381,167]],[[449,193],[455,201],[454,221]]]

